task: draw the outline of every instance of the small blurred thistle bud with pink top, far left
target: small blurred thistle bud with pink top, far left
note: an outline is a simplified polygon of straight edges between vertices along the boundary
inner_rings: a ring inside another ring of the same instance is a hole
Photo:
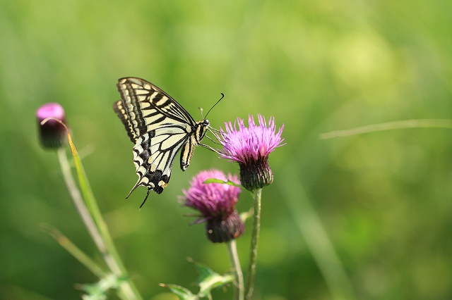
[[[57,103],[47,103],[37,108],[37,125],[40,130],[40,142],[45,149],[58,149],[66,142],[66,128],[57,120],[47,120],[41,125],[41,122],[47,118],[55,118],[66,123],[63,106]]]

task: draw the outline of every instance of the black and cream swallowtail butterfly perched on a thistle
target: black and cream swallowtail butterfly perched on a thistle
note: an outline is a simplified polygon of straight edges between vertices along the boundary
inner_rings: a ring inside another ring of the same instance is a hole
[[[133,163],[138,181],[126,198],[140,185],[149,192],[163,192],[171,177],[172,164],[181,151],[180,166],[189,167],[196,146],[209,130],[210,123],[196,122],[176,100],[152,83],[124,77],[117,83],[121,100],[114,102],[113,110],[126,127],[133,144]],[[140,206],[140,208],[141,208]]]

